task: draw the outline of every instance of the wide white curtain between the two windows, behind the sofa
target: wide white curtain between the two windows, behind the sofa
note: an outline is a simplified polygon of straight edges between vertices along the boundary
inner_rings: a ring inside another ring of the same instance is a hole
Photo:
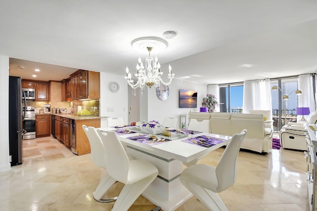
[[[245,81],[243,87],[243,113],[248,114],[250,110],[272,111],[269,79]]]

